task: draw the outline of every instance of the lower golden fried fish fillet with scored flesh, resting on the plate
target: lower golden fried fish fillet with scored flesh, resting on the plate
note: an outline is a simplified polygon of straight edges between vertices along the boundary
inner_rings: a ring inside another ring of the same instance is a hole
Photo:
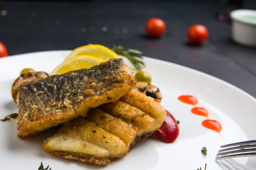
[[[86,118],[63,125],[44,141],[45,152],[99,165],[123,157],[163,123],[165,109],[137,90],[120,100],[91,109]]]

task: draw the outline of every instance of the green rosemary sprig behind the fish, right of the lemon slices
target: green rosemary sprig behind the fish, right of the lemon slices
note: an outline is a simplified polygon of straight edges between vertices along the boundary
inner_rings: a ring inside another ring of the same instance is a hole
[[[124,48],[121,45],[114,45],[110,47],[110,49],[116,52],[118,55],[126,57],[134,65],[136,69],[141,70],[145,67],[141,51]]]

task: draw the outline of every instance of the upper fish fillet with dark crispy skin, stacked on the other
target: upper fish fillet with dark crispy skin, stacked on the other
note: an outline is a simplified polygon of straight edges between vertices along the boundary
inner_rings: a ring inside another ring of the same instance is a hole
[[[86,116],[90,108],[117,101],[135,85],[132,71],[121,58],[23,84],[17,96],[18,135],[25,137]]]

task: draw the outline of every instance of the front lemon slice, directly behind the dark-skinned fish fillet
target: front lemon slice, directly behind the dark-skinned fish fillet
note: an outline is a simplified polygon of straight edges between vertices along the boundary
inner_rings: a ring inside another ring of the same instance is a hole
[[[77,55],[67,61],[63,61],[62,63],[60,63],[56,68],[54,68],[50,75],[63,74],[82,68],[90,68],[100,64],[101,62],[104,62],[104,60],[94,56]]]

